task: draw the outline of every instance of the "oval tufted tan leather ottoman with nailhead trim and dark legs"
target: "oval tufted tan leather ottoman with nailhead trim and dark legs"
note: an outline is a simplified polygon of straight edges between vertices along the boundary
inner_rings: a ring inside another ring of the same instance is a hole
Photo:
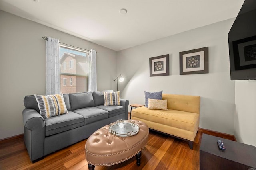
[[[148,142],[148,126],[138,120],[132,120],[140,126],[139,132],[130,137],[118,137],[108,131],[106,125],[95,131],[86,141],[85,151],[88,169],[95,166],[110,166],[124,162],[136,155],[140,165],[141,150]]]

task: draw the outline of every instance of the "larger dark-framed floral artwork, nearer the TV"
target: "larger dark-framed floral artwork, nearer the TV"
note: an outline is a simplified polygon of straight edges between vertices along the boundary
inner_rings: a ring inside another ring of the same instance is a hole
[[[180,52],[180,75],[209,73],[209,47]]]

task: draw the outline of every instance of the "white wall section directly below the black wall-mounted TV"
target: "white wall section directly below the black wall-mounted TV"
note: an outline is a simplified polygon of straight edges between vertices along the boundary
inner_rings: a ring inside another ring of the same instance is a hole
[[[256,80],[236,80],[235,137],[256,146]]]

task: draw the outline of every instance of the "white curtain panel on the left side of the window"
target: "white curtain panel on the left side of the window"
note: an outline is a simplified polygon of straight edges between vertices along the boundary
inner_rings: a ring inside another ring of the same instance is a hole
[[[59,40],[47,37],[46,40],[46,94],[60,93]]]

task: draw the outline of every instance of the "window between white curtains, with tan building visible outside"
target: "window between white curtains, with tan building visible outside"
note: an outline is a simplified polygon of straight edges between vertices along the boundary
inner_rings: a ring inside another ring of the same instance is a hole
[[[66,94],[87,91],[87,59],[87,51],[60,43],[60,80],[63,80],[60,92]]]

